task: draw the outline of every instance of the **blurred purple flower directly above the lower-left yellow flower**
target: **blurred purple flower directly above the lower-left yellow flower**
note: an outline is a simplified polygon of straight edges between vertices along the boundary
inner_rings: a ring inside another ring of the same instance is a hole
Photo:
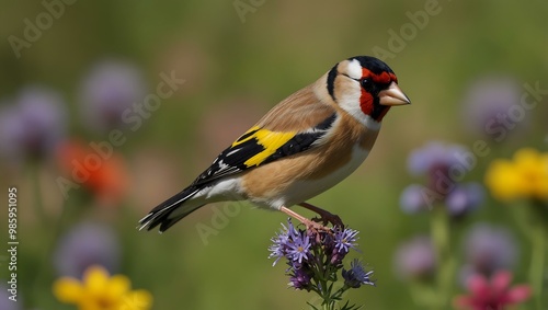
[[[101,265],[114,273],[119,265],[119,242],[112,229],[83,222],[65,234],[54,252],[59,276],[79,278],[91,265]]]

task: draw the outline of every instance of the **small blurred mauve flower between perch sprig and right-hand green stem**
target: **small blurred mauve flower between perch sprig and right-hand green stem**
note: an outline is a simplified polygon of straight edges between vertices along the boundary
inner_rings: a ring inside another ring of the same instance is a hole
[[[432,241],[419,236],[398,246],[395,256],[396,273],[402,278],[424,279],[431,277],[436,267]]]

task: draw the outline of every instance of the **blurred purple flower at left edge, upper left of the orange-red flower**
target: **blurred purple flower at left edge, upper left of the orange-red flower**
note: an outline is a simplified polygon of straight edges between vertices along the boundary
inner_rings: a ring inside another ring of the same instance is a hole
[[[14,103],[0,112],[0,153],[12,159],[53,153],[66,130],[62,97],[46,88],[27,87]]]

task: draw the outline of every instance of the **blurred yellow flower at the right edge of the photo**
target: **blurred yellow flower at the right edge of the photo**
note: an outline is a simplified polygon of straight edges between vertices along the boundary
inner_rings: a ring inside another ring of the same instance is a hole
[[[512,161],[494,160],[486,174],[486,185],[501,200],[548,199],[548,153],[521,149]]]

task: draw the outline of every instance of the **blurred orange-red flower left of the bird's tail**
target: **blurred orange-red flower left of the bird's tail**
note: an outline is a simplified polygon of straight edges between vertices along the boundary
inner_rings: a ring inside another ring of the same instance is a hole
[[[98,145],[66,142],[59,149],[59,165],[72,182],[88,188],[101,205],[116,205],[128,188],[124,158],[115,153],[111,145]]]

